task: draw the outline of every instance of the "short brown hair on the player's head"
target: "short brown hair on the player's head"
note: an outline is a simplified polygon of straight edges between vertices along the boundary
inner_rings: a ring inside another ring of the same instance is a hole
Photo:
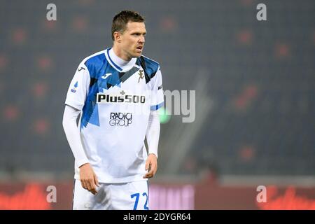
[[[113,18],[111,25],[111,38],[114,41],[113,33],[116,31],[124,32],[128,22],[144,22],[144,17],[131,10],[123,10]]]

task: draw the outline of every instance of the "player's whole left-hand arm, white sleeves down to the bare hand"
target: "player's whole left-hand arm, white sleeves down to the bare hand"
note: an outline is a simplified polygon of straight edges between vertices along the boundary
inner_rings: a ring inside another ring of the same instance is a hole
[[[85,64],[81,63],[71,80],[69,90],[66,95],[66,106],[62,125],[69,142],[71,151],[76,159],[76,164],[80,169],[80,182],[83,188],[91,193],[97,193],[97,176],[94,173],[80,140],[80,130],[76,120],[83,109],[87,91],[90,85],[90,74]]]

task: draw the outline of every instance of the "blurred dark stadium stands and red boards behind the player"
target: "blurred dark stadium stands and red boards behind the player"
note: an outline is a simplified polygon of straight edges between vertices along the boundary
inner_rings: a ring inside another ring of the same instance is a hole
[[[57,21],[46,20],[55,3]],[[258,3],[267,21],[256,20]],[[314,0],[0,1],[0,209],[71,209],[62,129],[78,63],[111,46],[123,9],[146,18],[165,90],[196,120],[162,124],[151,209],[315,209]],[[57,202],[46,202],[56,186]],[[267,202],[258,203],[258,186]]]

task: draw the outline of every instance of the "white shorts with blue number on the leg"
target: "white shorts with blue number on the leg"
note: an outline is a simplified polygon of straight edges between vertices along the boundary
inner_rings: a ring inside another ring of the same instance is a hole
[[[73,210],[148,210],[148,181],[99,183],[93,195],[75,180]]]

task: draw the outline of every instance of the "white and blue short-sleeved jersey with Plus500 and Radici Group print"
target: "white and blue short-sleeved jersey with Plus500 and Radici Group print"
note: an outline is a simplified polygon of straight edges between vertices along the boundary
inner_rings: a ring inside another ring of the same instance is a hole
[[[164,102],[158,62],[142,55],[125,66],[119,60],[125,62],[110,48],[86,57],[66,95],[65,104],[82,110],[80,137],[100,183],[144,180],[149,113]]]

